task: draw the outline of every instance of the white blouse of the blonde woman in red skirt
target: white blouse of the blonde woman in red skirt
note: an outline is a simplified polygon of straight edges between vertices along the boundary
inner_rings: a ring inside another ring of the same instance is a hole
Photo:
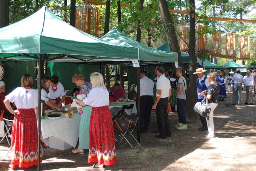
[[[83,102],[91,107],[100,107],[109,105],[109,92],[103,87],[96,87],[90,90]]]

